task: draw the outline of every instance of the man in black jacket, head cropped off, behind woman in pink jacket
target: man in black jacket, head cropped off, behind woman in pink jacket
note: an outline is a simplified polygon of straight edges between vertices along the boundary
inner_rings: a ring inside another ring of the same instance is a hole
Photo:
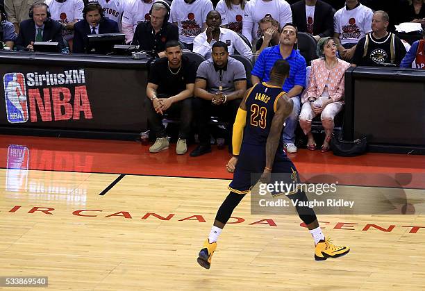
[[[291,5],[292,22],[298,31],[310,33],[316,40],[332,37],[332,6],[321,0],[301,0]]]

